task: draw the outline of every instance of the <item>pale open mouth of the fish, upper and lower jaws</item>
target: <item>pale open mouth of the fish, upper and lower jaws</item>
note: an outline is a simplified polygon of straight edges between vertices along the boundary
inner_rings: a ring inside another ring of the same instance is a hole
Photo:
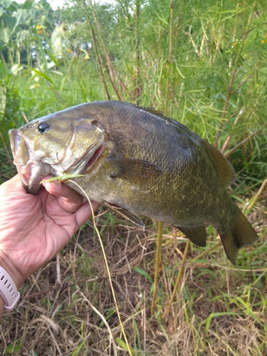
[[[14,164],[24,188],[31,194],[38,193],[43,177],[51,174],[51,166],[33,159],[20,130],[10,130],[9,138]]]

